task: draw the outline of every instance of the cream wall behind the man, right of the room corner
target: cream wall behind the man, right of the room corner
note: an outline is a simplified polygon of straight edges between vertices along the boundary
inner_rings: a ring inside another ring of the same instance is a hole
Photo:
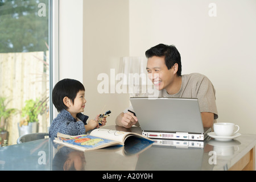
[[[208,7],[216,4],[217,16]],[[256,1],[130,0],[130,56],[174,44],[183,74],[208,76],[216,89],[217,122],[256,134]]]

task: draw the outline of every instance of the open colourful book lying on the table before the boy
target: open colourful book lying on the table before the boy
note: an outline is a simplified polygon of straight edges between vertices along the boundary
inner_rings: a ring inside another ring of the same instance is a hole
[[[90,135],[69,136],[61,133],[57,134],[57,138],[53,140],[56,143],[63,144],[68,147],[75,148],[81,151],[95,150],[98,148],[109,147],[113,145],[125,145],[125,140],[128,137],[139,137],[143,140],[153,143],[149,138],[137,133],[130,133],[125,131],[109,130],[109,129],[95,129]]]

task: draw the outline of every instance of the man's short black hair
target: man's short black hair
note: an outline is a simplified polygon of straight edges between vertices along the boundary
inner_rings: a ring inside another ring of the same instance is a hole
[[[175,63],[179,65],[177,75],[181,76],[181,58],[180,53],[177,48],[173,45],[168,46],[165,44],[158,44],[154,47],[151,47],[145,52],[147,58],[158,56],[164,56],[164,60],[168,69],[174,66]]]

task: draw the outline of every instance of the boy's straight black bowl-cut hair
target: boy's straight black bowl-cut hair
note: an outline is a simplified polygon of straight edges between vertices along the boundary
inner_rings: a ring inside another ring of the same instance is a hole
[[[56,107],[57,111],[63,109],[68,109],[68,107],[63,103],[63,98],[68,97],[74,103],[76,94],[80,91],[85,91],[84,85],[80,81],[65,78],[57,82],[52,90],[52,102]]]

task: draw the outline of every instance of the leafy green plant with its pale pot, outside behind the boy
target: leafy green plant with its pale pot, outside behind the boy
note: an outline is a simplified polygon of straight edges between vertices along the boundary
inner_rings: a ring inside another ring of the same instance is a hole
[[[38,133],[38,115],[47,110],[46,101],[40,101],[39,99],[25,101],[25,106],[22,108],[21,113],[22,119],[18,123],[19,136]]]

